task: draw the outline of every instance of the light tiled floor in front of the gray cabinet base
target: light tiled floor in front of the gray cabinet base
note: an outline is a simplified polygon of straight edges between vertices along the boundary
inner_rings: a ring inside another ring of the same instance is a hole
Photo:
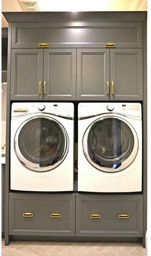
[[[147,250],[134,243],[11,242],[3,256],[145,256]]]

